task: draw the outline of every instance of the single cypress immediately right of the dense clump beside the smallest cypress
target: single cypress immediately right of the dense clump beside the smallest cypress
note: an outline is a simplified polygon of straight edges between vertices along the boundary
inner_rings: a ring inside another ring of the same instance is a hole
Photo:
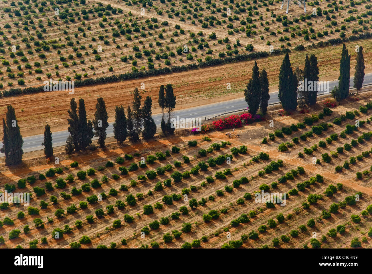
[[[98,136],[98,144],[100,148],[105,147],[105,139],[106,139],[106,129],[109,126],[107,120],[109,116],[107,115],[106,111],[106,104],[102,97],[97,98],[96,104],[96,113],[94,113],[94,120],[93,126],[95,133],[94,135]]]

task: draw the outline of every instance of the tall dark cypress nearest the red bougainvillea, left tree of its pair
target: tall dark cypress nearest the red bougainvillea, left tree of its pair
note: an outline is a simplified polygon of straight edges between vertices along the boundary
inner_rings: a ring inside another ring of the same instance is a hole
[[[245,99],[249,107],[248,111],[252,115],[256,114],[260,106],[261,86],[259,76],[260,75],[257,62],[254,61],[254,66],[252,69],[252,78],[249,79],[247,88],[244,89],[244,95],[246,97]]]

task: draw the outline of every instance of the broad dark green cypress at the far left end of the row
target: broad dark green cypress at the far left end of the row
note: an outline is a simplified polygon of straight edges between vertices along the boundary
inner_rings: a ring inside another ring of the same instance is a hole
[[[1,152],[5,154],[5,164],[7,166],[19,164],[22,161],[23,139],[18,126],[16,113],[11,105],[7,106],[6,122],[3,119],[3,144]]]

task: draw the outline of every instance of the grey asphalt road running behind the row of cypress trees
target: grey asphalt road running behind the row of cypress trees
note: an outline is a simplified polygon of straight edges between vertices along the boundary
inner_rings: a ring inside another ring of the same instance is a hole
[[[329,91],[331,91],[334,86],[338,84],[338,80],[330,81],[329,85]],[[364,76],[363,85],[372,84],[372,73],[366,74]],[[350,88],[352,88],[354,85],[353,77],[350,78]],[[323,94],[324,91],[319,91],[318,94]],[[270,100],[269,104],[278,103],[278,91],[270,92]],[[176,118],[179,116],[180,118],[195,118],[195,119],[208,119],[210,117],[217,116],[219,114],[224,114],[225,112],[230,112],[234,110],[242,110],[244,108],[247,108],[247,102],[244,100],[244,98],[238,98],[234,100],[228,100],[223,103],[211,103],[208,105],[202,105],[199,107],[192,107],[187,108],[184,110],[176,110],[174,111],[174,117]],[[155,114],[153,115],[155,124],[157,127],[160,127],[160,121],[161,121],[161,114]],[[52,138],[53,138],[53,147],[59,147],[62,145],[65,145],[67,137],[70,133],[67,130],[53,132]],[[109,127],[107,129],[107,137],[113,136],[113,126],[112,123],[109,124]],[[98,138],[93,137],[93,140],[96,140]],[[34,135],[34,136],[28,136],[23,138],[23,152],[30,152],[30,151],[36,151],[40,149],[44,149],[44,147],[41,145],[44,141],[44,134],[41,135]],[[0,146],[2,147],[3,144],[1,143]],[[0,153],[0,157],[4,157],[4,153]]]

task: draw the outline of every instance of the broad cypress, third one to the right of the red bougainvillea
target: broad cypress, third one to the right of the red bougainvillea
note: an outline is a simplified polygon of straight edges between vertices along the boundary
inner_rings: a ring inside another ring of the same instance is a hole
[[[293,74],[288,53],[285,54],[279,71],[279,100],[285,110],[297,107],[297,79]]]

